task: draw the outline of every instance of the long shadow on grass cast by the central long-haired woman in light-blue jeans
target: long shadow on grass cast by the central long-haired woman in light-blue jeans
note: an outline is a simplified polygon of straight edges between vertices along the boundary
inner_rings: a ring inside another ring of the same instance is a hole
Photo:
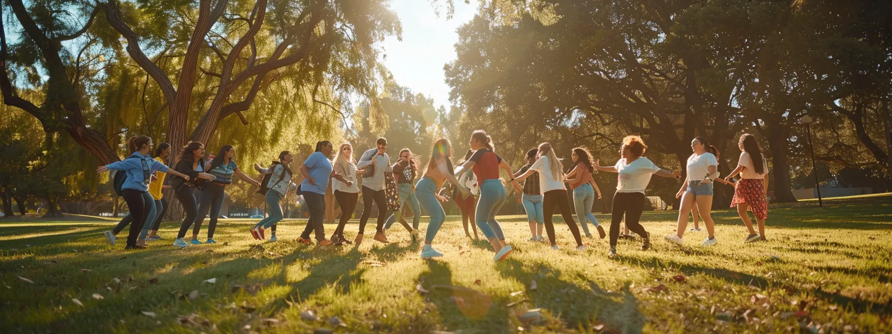
[[[489,297],[475,289],[453,286],[449,265],[436,260],[427,260],[426,263],[428,269],[419,275],[418,281],[422,281],[430,290],[428,299],[436,305],[445,329],[514,331],[509,328],[505,300]]]

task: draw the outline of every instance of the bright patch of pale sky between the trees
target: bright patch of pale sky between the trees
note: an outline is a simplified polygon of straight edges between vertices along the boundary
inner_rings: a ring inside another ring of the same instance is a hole
[[[425,0],[392,0],[391,8],[400,17],[402,41],[387,37],[384,43],[384,66],[390,69],[400,86],[414,93],[434,98],[434,106],[449,110],[449,91],[443,65],[456,58],[458,26],[474,18],[477,2],[465,4],[455,0],[455,14],[446,18],[445,1],[431,4]],[[440,6],[440,16],[434,5]]]

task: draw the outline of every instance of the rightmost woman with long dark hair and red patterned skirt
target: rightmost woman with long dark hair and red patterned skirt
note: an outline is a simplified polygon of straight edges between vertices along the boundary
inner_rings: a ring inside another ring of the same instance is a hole
[[[725,177],[729,181],[734,175],[740,174],[740,181],[734,187],[734,199],[731,200],[731,208],[737,206],[737,214],[743,224],[747,225],[749,235],[744,242],[753,242],[765,239],[765,219],[768,219],[768,163],[762,155],[762,148],[753,134],[743,134],[738,143],[740,159],[737,168]],[[756,216],[759,224],[759,232],[753,229],[753,221],[747,215],[747,209]]]

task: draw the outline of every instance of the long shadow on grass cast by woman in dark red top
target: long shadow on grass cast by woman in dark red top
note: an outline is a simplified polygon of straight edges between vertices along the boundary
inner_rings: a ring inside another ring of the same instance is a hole
[[[507,278],[524,283],[535,280],[537,288],[527,291],[534,307],[544,308],[558,316],[568,328],[589,329],[595,320],[624,333],[640,333],[644,328],[644,315],[640,313],[638,300],[628,287],[621,292],[607,292],[595,282],[585,280],[591,291],[586,290],[562,281],[558,269],[543,264],[524,264],[514,258],[503,261],[497,267]]]

